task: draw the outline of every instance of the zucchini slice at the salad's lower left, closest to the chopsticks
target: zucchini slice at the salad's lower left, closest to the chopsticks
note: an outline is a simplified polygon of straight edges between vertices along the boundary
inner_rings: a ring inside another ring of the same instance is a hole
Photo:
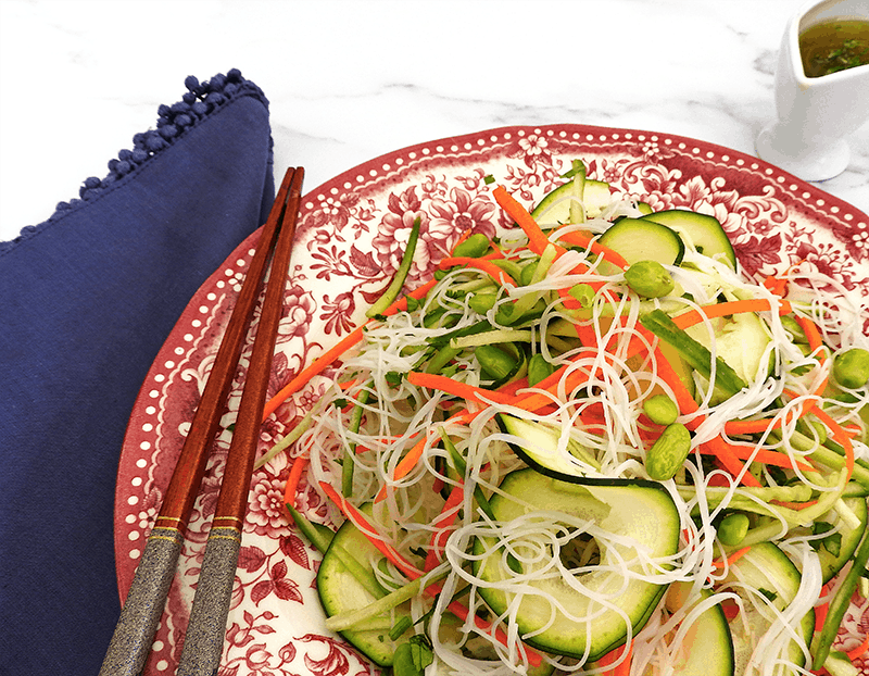
[[[370,505],[363,508],[364,512],[369,512],[369,510]],[[341,548],[342,551],[338,552],[338,548]],[[317,591],[323,609],[329,617],[358,610],[376,600],[371,592],[341,563],[341,559],[348,555],[355,559],[369,572],[371,561],[382,558],[382,554],[352,522],[343,523],[335,534],[317,572]],[[403,615],[410,615],[407,603],[396,608],[393,616],[382,615],[376,618],[376,623],[370,624],[369,628],[345,629],[341,631],[341,635],[375,664],[391,666],[395,648],[413,634],[413,629],[410,629],[399,640],[390,639],[391,627]]]

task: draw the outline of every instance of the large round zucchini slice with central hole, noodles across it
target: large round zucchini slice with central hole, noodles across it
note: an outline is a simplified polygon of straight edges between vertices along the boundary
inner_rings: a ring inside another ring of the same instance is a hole
[[[515,610],[519,636],[529,644],[574,658],[582,658],[588,651],[588,660],[593,661],[625,643],[628,625],[622,613],[635,634],[654,612],[667,585],[639,578],[650,574],[654,578],[654,568],[644,569],[639,563],[638,548],[663,563],[678,550],[680,521],[669,493],[657,484],[626,479],[576,481],[553,479],[530,468],[518,470],[504,477],[490,505],[499,523],[537,512],[545,513],[541,518],[564,513],[592,522],[620,540],[600,546],[601,565],[589,566],[568,584],[561,576],[542,573],[545,556],[536,563],[530,558],[522,560],[522,553],[529,552],[521,543],[514,542],[516,555],[509,556],[494,537],[480,537],[474,543],[474,554],[479,556],[474,572],[483,580],[480,596],[495,614],[508,612],[516,601],[514,589],[533,590],[522,596]],[[628,546],[626,540],[635,546]],[[585,546],[588,538],[580,533],[574,533],[562,546],[561,559],[568,568],[576,566],[572,556],[581,556]],[[619,559],[625,561],[624,568]],[[509,580],[517,574],[522,576],[521,583],[512,587]],[[606,594],[612,605],[605,608],[593,601],[577,586]],[[566,614],[553,605],[553,599],[565,608]],[[543,629],[553,613],[555,622]]]

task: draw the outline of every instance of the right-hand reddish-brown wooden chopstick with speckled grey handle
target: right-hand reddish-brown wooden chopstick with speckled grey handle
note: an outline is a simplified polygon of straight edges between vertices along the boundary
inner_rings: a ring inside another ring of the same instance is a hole
[[[217,673],[221,663],[251,474],[263,422],[278,323],[284,309],[303,177],[304,171],[295,170],[290,185],[286,217],[275,247],[253,354],[197,583],[181,659],[176,671],[178,676],[212,676]]]

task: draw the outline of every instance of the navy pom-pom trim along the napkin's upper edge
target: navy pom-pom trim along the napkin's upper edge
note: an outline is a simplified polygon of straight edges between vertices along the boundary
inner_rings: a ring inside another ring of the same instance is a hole
[[[117,153],[116,159],[109,161],[109,174],[104,178],[101,179],[97,176],[86,178],[78,190],[78,198],[68,202],[60,202],[48,221],[40,225],[25,226],[15,239],[0,242],[0,254],[23,239],[33,237],[46,223],[56,221],[80,209],[117,185],[123,178],[135,174],[149,160],[175,143],[185,132],[206,120],[231,100],[245,96],[255,97],[268,108],[268,99],[262,89],[245,79],[238,68],[228,71],[226,75],[218,73],[211,79],[201,83],[197,77],[190,75],[184,84],[187,92],[181,100],[173,105],[162,104],[158,109],[156,128],[134,136],[133,149],[124,149]],[[272,164],[272,162],[273,151],[269,148],[268,163]]]

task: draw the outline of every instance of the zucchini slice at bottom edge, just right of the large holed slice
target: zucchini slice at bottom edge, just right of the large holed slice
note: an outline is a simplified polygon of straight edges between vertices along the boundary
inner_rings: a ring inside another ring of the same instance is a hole
[[[697,603],[711,598],[707,589],[691,598],[691,583],[673,583],[670,585],[664,604],[668,611],[675,613],[685,609],[691,612]],[[720,604],[713,605],[703,611],[691,623],[682,638],[680,647],[672,655],[670,664],[656,664],[646,668],[644,676],[667,673],[672,676],[733,676],[735,661],[733,656],[733,640],[730,637],[730,627]],[[669,671],[672,669],[672,671]]]

